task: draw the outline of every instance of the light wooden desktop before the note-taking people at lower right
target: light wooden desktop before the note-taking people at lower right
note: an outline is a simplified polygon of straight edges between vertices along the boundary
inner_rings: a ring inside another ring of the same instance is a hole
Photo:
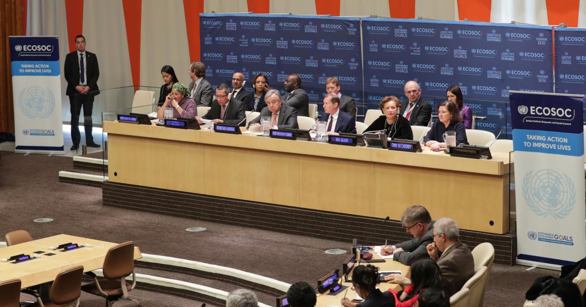
[[[374,253],[374,251],[370,251],[371,253],[373,253],[373,259],[380,259],[381,257],[378,256],[376,253]],[[407,265],[401,264],[400,262],[397,261],[393,261],[393,259],[386,259],[386,262],[384,263],[366,263],[365,261],[361,261],[360,264],[372,264],[375,267],[379,268],[379,272],[380,271],[397,271],[397,270],[401,270],[401,274],[410,277],[410,267],[408,267]],[[342,274],[340,272],[340,274]],[[350,273],[350,276],[348,277],[348,282],[342,282],[342,285],[348,287],[346,288],[348,290],[347,294],[346,294],[346,298],[349,299],[355,299],[356,298],[356,292],[353,291],[352,288],[352,273]],[[342,281],[343,281],[343,277],[342,277]],[[380,291],[387,291],[389,289],[394,289],[394,290],[400,290],[401,286],[398,284],[389,284],[388,282],[381,282],[380,284],[377,285],[377,287],[380,289]],[[316,302],[315,306],[318,307],[328,307],[328,306],[340,306],[340,302],[342,302],[342,299],[344,298],[344,293],[346,292],[346,289],[343,289],[342,291],[338,292],[338,294],[336,295],[328,295],[328,292],[323,293],[323,294],[318,294],[318,301]]]

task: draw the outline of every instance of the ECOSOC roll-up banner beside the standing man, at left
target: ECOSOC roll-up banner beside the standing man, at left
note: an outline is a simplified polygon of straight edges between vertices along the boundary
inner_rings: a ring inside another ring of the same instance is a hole
[[[59,37],[11,36],[16,153],[64,154]]]

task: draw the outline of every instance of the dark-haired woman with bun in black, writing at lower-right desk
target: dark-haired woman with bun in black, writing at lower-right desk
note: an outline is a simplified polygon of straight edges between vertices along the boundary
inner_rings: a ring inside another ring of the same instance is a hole
[[[381,292],[376,285],[379,283],[379,268],[373,265],[358,265],[352,272],[352,289],[364,301],[355,303],[349,298],[342,299],[345,307],[393,307],[395,298],[389,291]]]

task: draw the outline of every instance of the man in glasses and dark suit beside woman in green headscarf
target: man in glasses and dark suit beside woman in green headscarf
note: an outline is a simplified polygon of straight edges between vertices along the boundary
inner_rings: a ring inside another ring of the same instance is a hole
[[[212,120],[213,123],[229,123],[232,125],[244,126],[246,112],[244,102],[229,96],[230,88],[227,84],[221,83],[216,87],[216,100],[212,102],[210,111],[202,119]],[[197,119],[197,122],[203,123]]]

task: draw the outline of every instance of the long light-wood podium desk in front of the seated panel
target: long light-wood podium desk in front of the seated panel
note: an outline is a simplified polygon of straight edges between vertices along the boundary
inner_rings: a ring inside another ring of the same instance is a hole
[[[492,160],[104,121],[108,180],[400,220],[424,205],[461,229],[509,232],[509,153]]]

